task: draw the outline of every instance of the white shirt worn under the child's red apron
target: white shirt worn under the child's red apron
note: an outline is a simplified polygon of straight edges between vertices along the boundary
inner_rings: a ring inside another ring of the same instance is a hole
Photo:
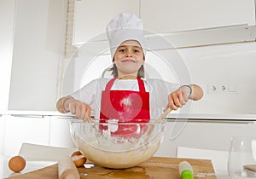
[[[72,94],[73,98],[88,104],[95,113],[95,118],[100,117],[102,90],[105,90],[109,78],[98,78]],[[168,95],[177,90],[179,85],[161,79],[143,80],[145,90],[149,92],[150,118],[159,118],[168,104]],[[137,79],[116,79],[111,90],[138,91]]]

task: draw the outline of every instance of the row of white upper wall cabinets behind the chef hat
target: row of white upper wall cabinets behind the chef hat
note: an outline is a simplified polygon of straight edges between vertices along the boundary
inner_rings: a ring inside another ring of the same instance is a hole
[[[73,34],[69,34],[74,45],[90,39],[107,41],[106,25],[120,12],[137,14],[143,20],[145,34],[150,34],[148,48],[153,50],[253,42],[256,37],[254,0],[99,1],[76,1],[70,25]],[[158,45],[158,38],[165,38],[168,44]]]

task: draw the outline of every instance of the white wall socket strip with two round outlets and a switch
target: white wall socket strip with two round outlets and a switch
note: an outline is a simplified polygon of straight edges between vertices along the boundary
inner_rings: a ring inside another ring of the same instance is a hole
[[[237,84],[207,84],[208,94],[236,93]]]

